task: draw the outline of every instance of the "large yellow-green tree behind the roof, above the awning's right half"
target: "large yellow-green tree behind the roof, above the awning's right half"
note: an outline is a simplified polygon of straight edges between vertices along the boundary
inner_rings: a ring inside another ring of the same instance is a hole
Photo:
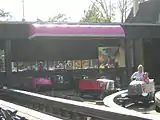
[[[105,0],[91,1],[88,10],[84,11],[84,17],[80,22],[106,23],[114,19],[114,6]]]

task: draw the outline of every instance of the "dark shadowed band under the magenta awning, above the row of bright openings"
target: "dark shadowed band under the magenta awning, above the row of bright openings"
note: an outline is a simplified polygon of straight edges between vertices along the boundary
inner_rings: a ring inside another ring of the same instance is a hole
[[[45,39],[45,40],[44,40]],[[118,46],[119,39],[108,38],[38,38],[12,42],[13,61],[79,60],[98,57],[97,47]]]

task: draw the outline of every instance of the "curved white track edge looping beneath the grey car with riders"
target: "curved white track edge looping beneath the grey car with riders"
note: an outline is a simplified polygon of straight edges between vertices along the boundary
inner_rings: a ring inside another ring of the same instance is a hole
[[[136,112],[136,114],[148,114],[149,116],[152,116],[153,113],[151,111],[155,109],[155,105],[153,105],[153,103],[151,103],[149,106],[145,106],[142,103],[135,104],[130,99],[122,97],[125,96],[127,92],[128,90],[123,90],[105,97],[103,100],[104,105],[119,109],[120,111]],[[153,115],[152,119],[157,119],[159,115],[159,113]]]

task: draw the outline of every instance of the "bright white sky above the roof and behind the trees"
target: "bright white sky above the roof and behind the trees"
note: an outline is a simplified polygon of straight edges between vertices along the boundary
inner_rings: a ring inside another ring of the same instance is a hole
[[[117,0],[112,0],[116,2]],[[58,13],[71,17],[71,22],[78,22],[88,8],[90,0],[24,0],[25,19],[36,21],[37,18],[47,20]],[[22,0],[0,0],[0,9],[10,12],[13,20],[23,17]],[[120,22],[120,13],[116,11],[115,21]]]

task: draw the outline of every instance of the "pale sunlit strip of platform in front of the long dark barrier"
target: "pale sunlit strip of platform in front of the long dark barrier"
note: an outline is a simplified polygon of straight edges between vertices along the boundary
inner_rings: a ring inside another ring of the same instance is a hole
[[[28,109],[10,102],[6,102],[3,100],[0,100],[0,107],[6,110],[15,111],[17,110],[17,115],[25,117],[28,120],[62,120],[60,118],[55,118],[50,115],[46,115],[44,113]]]

